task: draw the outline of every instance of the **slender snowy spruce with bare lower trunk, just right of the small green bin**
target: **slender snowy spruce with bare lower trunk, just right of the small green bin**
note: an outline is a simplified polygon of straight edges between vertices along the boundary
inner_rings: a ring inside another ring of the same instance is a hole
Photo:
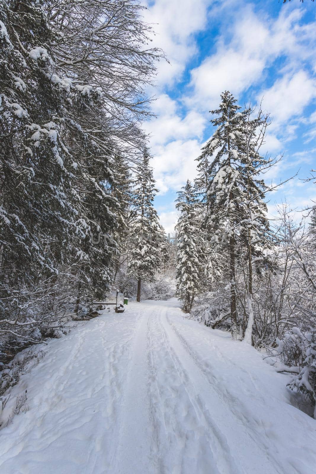
[[[153,207],[157,192],[153,169],[149,164],[150,155],[144,149],[143,160],[136,169],[136,187],[133,191],[133,218],[130,229],[130,250],[128,273],[137,279],[137,301],[140,301],[142,281],[150,282],[160,265],[157,234],[159,219]]]

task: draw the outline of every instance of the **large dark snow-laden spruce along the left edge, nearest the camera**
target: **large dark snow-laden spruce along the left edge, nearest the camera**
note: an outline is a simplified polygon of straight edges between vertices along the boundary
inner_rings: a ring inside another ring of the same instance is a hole
[[[69,91],[50,80],[54,33],[45,10],[35,1],[1,2],[0,21],[1,331],[19,337],[43,322],[36,307],[28,314],[29,294],[43,300],[53,289],[57,297],[58,261],[69,264],[76,214],[70,192],[77,193],[62,136]],[[74,124],[68,131],[79,133]]]

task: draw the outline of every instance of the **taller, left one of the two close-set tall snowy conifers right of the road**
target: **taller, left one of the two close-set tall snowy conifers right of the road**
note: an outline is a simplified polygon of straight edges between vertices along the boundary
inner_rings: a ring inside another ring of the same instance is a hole
[[[235,182],[238,173],[231,166],[232,160],[238,154],[233,137],[241,134],[240,124],[242,113],[236,105],[237,100],[225,91],[221,94],[222,102],[219,108],[211,110],[217,115],[211,123],[217,127],[216,132],[202,148],[198,158],[198,167],[205,175],[207,228],[214,227],[216,239],[229,243],[229,279],[230,279],[230,312],[232,335],[237,337],[237,307],[235,289],[235,203],[236,198],[231,184]],[[204,169],[203,169],[204,168]]]

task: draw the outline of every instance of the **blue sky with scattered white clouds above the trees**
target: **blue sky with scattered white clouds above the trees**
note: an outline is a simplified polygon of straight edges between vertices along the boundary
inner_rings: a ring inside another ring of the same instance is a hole
[[[268,183],[298,176],[270,195],[268,209],[285,199],[294,209],[316,200],[304,183],[316,168],[316,2],[291,0],[147,1],[153,45],[171,64],[158,64],[151,134],[155,205],[167,232],[177,220],[176,191],[194,179],[199,150],[212,135],[210,109],[231,91],[240,105],[262,101],[273,121],[264,152],[283,154]]]

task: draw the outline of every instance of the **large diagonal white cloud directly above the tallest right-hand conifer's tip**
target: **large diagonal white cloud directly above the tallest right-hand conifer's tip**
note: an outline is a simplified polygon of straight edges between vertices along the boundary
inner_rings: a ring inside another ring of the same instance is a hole
[[[296,9],[286,16],[286,11],[281,10],[276,20],[259,19],[251,8],[244,8],[238,21],[228,27],[230,41],[225,40],[224,34],[220,35],[216,53],[191,71],[193,93],[186,98],[187,104],[205,109],[207,103],[209,108],[214,108],[222,91],[230,90],[239,95],[258,84],[265,68],[278,56],[288,56],[286,69],[292,69],[298,59],[300,62],[311,60],[315,48],[301,47],[304,40],[312,44],[305,27],[298,26],[302,14],[301,9]],[[315,23],[314,26],[316,29]]]

